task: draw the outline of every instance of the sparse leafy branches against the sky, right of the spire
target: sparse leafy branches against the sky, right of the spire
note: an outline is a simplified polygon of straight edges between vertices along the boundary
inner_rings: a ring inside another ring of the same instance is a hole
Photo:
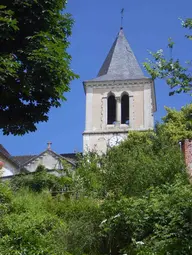
[[[184,28],[192,29],[192,19],[182,20],[182,26]],[[191,35],[186,35],[188,39],[192,39]],[[179,59],[172,57],[172,50],[174,48],[174,42],[171,38],[168,41],[168,48],[170,49],[170,58],[167,58],[163,50],[157,52],[150,52],[152,60],[148,60],[144,63],[144,67],[151,75],[152,79],[160,78],[166,79],[171,92],[170,95],[175,93],[190,93],[191,94],[191,60],[188,60],[185,65],[180,63]]]

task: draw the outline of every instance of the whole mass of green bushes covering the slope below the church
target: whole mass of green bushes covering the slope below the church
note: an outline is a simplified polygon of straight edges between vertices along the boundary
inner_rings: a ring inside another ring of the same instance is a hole
[[[191,105],[167,108],[155,131],[80,156],[75,172],[39,166],[0,183],[0,254],[191,254],[192,186],[178,144],[191,137],[190,116]]]

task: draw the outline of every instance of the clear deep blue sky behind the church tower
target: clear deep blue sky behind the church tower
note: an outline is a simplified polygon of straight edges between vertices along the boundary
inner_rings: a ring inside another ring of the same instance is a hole
[[[179,18],[191,17],[191,0],[68,0],[66,12],[72,14],[75,24],[70,38],[71,68],[80,78],[71,82],[67,101],[59,109],[52,109],[49,121],[40,123],[37,131],[24,136],[3,136],[0,143],[11,155],[35,155],[52,142],[56,153],[81,152],[85,126],[85,94],[82,82],[95,78],[120,29],[121,9],[124,8],[124,33],[142,65],[149,58],[148,50],[163,49],[167,41],[175,41],[173,55],[182,63],[192,59],[188,32]],[[145,73],[147,76],[148,74]],[[180,109],[191,102],[189,95],[170,97],[165,81],[157,80],[157,112],[155,121],[165,115],[164,106]]]

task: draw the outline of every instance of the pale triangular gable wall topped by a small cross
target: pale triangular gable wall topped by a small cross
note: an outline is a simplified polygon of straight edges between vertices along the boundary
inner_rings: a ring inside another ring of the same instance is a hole
[[[39,165],[43,165],[47,169],[61,169],[61,167],[62,167],[59,159],[56,159],[48,152],[45,152],[43,155],[38,157],[36,160],[32,161],[27,166],[25,166],[25,168],[29,172],[34,172],[34,171],[36,171],[36,169]]]

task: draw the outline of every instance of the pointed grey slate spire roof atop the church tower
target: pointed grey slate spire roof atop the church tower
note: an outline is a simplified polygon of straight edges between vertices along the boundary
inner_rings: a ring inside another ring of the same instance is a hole
[[[91,81],[130,80],[146,78],[124,35],[123,29],[117,35],[98,75]]]

